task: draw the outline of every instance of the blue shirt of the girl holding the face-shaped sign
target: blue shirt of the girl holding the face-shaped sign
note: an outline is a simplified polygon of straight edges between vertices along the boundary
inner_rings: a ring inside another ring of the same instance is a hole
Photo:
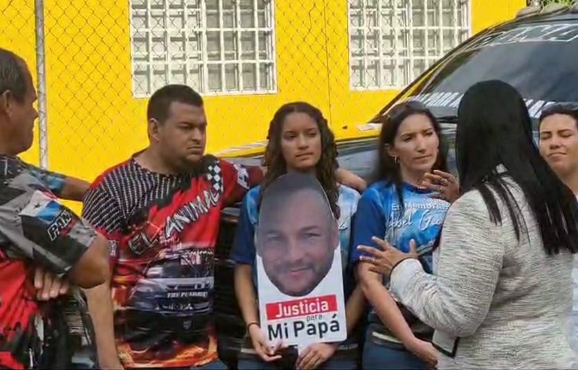
[[[255,227],[259,220],[258,200],[261,187],[254,187],[247,193],[241,207],[240,219],[235,232],[235,241],[231,250],[231,259],[235,263],[253,266],[253,284],[257,290],[257,269],[255,268]],[[357,209],[360,195],[356,190],[345,185],[339,185],[338,205],[340,216],[338,220],[339,239],[341,243],[341,266],[343,267],[343,296],[347,298],[355,288],[355,280],[347,268],[351,253],[351,225]],[[355,342],[354,337],[348,338],[346,345],[350,347]],[[246,345],[252,346],[248,341]]]

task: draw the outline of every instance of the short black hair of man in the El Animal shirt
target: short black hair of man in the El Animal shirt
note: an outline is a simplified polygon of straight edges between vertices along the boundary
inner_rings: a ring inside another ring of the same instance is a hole
[[[169,117],[170,104],[174,102],[203,107],[203,98],[197,91],[186,85],[170,84],[161,87],[150,97],[147,120],[154,119],[160,123],[165,122]]]

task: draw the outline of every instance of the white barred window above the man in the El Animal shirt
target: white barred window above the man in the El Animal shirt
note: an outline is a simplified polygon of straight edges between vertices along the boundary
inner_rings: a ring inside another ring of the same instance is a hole
[[[129,0],[132,91],[276,92],[273,0]]]

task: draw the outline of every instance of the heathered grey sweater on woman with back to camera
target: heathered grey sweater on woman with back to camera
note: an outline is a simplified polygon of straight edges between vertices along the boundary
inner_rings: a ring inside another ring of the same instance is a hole
[[[525,228],[520,241],[505,204],[502,225],[489,219],[478,191],[451,205],[434,275],[415,259],[392,272],[391,291],[435,329],[438,369],[570,369],[572,258],[548,256],[519,187],[509,184]],[[457,345],[456,338],[459,338]]]

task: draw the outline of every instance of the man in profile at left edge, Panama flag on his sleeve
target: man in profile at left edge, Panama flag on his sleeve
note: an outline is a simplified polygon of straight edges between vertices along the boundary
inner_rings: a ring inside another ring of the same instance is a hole
[[[108,242],[56,198],[64,178],[22,162],[33,142],[36,91],[26,63],[0,48],[0,368],[46,367],[51,302],[35,270],[91,288],[109,275]],[[50,366],[50,365],[48,365]]]

